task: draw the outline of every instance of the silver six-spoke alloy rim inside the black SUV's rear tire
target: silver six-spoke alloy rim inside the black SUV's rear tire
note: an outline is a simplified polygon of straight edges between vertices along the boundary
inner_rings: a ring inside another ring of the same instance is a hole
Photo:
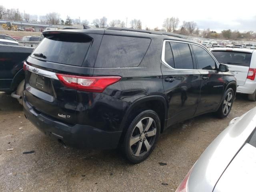
[[[156,122],[151,117],[140,120],[132,131],[130,150],[134,156],[146,154],[155,142]]]

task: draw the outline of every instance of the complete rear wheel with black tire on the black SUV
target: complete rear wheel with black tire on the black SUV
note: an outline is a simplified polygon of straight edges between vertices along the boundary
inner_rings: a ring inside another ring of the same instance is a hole
[[[124,156],[140,163],[152,153],[160,134],[160,118],[153,110],[145,110],[131,120],[124,138]]]

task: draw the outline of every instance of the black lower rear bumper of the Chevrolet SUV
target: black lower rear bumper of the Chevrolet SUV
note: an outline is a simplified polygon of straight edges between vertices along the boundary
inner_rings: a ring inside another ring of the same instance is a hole
[[[44,114],[35,111],[24,100],[24,114],[34,126],[44,134],[63,141],[67,146],[86,149],[114,149],[117,148],[120,132],[105,132],[92,126],[68,125],[54,120]]]

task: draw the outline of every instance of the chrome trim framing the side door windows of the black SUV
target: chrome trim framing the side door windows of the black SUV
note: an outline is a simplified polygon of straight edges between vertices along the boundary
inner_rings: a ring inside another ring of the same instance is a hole
[[[162,60],[162,63],[167,66],[168,68],[170,69],[173,69],[173,70],[195,70],[195,71],[216,71],[216,70],[205,70],[205,69],[175,69],[175,68],[172,68],[168,63],[165,62],[164,60],[164,56],[165,56],[165,43],[166,42],[178,42],[178,43],[186,43],[186,44],[192,44],[192,45],[196,45],[196,46],[199,46],[201,48],[203,48],[204,50],[206,50],[206,52],[208,52],[208,54],[213,58],[213,60],[216,62],[216,65],[217,67],[219,67],[219,63],[218,61],[214,58],[214,56],[206,49],[204,48],[203,46],[201,45],[198,45],[198,44],[195,44],[195,43],[191,43],[191,42],[184,42],[184,41],[176,41],[176,40],[164,40],[163,42],[163,47],[162,47],[162,57],[161,57],[161,60]],[[192,54],[192,53],[191,53]]]

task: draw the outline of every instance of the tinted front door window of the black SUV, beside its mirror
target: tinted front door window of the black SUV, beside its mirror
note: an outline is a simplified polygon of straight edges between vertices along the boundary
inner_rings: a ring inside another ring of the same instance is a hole
[[[210,54],[204,50],[202,47],[197,45],[192,45],[195,58],[198,64],[198,69],[203,70],[215,70],[216,64],[215,60],[210,56]]]

